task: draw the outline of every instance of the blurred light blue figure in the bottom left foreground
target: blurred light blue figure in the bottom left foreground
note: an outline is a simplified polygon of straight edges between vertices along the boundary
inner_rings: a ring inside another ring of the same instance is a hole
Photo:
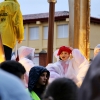
[[[31,100],[22,82],[0,69],[0,100]]]

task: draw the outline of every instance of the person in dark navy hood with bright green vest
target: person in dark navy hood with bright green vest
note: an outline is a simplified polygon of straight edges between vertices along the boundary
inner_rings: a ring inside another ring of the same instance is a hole
[[[34,100],[41,100],[50,73],[43,66],[34,66],[29,72],[28,90]]]

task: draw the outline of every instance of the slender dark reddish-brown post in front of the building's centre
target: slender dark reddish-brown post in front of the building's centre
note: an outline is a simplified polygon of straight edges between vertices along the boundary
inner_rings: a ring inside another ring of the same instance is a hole
[[[56,0],[48,0],[49,2],[49,28],[48,28],[48,49],[47,49],[47,64],[53,60],[53,38],[54,38],[54,14]]]

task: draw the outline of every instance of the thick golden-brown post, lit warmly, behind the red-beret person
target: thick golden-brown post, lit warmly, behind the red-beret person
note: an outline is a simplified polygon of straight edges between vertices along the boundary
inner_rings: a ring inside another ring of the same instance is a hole
[[[74,4],[74,48],[89,59],[90,0],[75,0]]]

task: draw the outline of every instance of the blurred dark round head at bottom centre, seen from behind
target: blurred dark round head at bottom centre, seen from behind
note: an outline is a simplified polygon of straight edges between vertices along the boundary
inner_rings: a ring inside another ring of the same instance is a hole
[[[71,79],[58,78],[48,85],[43,100],[77,100],[77,91]]]

